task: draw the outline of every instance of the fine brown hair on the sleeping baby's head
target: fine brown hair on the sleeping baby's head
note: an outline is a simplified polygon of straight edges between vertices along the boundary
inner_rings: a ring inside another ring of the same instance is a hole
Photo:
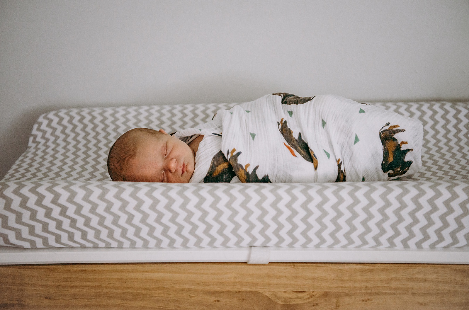
[[[135,156],[139,139],[144,135],[161,135],[159,131],[149,128],[130,129],[120,136],[109,149],[107,155],[107,172],[113,181],[126,180],[125,172],[129,159]]]

